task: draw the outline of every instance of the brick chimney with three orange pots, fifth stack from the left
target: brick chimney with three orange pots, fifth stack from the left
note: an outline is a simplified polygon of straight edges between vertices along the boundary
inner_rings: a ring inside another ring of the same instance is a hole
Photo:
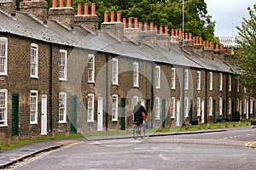
[[[109,35],[112,35],[113,37],[116,37],[117,39],[119,39],[119,41],[123,41],[123,37],[124,37],[124,24],[120,22],[120,18],[121,18],[121,13],[118,12],[117,13],[117,20],[115,21],[115,17],[114,17],[114,11],[111,11],[111,22],[108,22],[108,13],[104,13],[104,22],[102,23],[102,32],[107,32]]]

